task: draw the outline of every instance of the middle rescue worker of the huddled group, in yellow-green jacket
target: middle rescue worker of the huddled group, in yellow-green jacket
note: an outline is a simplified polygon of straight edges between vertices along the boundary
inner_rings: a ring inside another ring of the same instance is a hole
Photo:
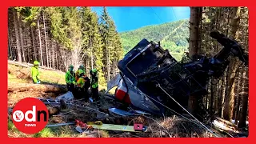
[[[76,82],[76,98],[85,98],[86,102],[89,100],[88,88],[90,87],[90,79],[86,77],[84,70],[78,70],[78,81]],[[88,85],[89,83],[89,85]]]

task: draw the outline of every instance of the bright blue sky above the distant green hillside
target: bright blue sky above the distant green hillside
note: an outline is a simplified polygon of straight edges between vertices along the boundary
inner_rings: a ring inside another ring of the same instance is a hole
[[[190,18],[190,7],[186,6],[107,6],[106,8],[110,17],[114,19],[118,32]],[[93,6],[92,10],[98,15],[102,13],[101,6]]]

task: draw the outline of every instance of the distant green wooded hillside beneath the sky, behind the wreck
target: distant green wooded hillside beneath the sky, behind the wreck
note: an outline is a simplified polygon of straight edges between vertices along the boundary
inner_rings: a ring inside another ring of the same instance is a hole
[[[188,48],[186,40],[189,38],[188,26],[188,19],[185,19],[123,32],[120,33],[122,46],[126,54],[142,38],[146,38],[148,41],[160,41],[164,49],[168,49],[174,58],[180,60],[183,52]]]

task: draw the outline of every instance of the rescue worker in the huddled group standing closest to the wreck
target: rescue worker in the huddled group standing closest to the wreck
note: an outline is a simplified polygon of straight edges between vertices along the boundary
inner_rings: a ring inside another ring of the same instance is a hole
[[[90,70],[91,75],[91,83],[90,83],[90,90],[92,93],[92,97],[94,100],[98,101],[98,76],[97,76],[97,70],[92,69]]]

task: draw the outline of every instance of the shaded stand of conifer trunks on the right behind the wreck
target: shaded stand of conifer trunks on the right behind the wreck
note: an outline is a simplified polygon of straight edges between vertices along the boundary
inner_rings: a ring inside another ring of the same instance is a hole
[[[222,46],[210,38],[209,32],[218,30],[238,41],[248,51],[248,9],[246,7],[191,7],[190,8],[190,56],[193,54],[214,55]],[[209,94],[198,99],[190,97],[190,112],[205,111],[207,120],[214,117],[246,127],[249,105],[248,67],[238,59],[230,60],[221,78],[211,78]],[[206,120],[206,121],[207,121]]]

